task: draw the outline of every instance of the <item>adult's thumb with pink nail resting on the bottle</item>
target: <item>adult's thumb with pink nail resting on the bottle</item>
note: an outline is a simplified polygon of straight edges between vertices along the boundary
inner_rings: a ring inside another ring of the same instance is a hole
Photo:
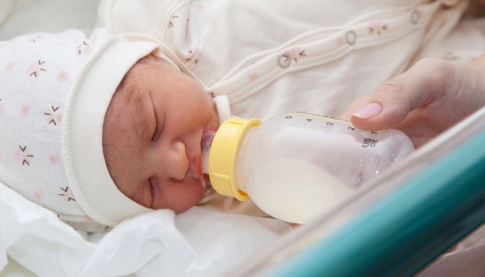
[[[454,84],[452,64],[425,58],[411,69],[382,84],[351,115],[355,127],[368,131],[396,127],[414,109],[439,98]]]

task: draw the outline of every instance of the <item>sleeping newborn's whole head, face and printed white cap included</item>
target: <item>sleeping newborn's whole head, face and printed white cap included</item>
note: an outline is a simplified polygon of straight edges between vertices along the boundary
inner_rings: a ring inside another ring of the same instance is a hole
[[[1,43],[0,184],[84,231],[193,206],[219,118],[160,47],[103,28]]]

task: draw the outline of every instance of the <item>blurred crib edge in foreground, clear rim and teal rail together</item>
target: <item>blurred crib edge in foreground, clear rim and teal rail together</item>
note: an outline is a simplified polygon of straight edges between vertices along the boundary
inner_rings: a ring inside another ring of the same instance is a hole
[[[227,276],[426,276],[484,220],[485,108]]]

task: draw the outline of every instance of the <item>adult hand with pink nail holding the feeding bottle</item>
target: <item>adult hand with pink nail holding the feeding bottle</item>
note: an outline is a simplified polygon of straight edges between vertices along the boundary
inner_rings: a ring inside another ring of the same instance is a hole
[[[417,148],[483,105],[485,55],[470,64],[425,58],[340,117],[367,131],[398,129]]]

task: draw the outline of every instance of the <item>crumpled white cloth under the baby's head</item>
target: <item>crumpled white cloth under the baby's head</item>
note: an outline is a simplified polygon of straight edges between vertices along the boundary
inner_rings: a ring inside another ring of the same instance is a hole
[[[193,207],[141,215],[108,233],[76,232],[0,185],[0,269],[8,253],[39,276],[217,276],[288,231],[279,220]]]

